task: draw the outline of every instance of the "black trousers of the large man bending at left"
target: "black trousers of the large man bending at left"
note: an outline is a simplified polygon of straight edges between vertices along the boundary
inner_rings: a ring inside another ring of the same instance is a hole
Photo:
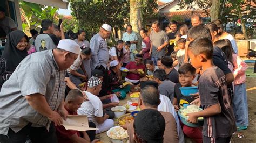
[[[31,123],[22,128],[22,130],[15,133],[9,128],[8,134],[0,134],[0,142],[2,143],[23,143],[26,139],[30,138],[32,142],[52,142],[57,143],[56,130],[53,124],[50,125],[50,130],[46,130],[45,127],[32,127]]]

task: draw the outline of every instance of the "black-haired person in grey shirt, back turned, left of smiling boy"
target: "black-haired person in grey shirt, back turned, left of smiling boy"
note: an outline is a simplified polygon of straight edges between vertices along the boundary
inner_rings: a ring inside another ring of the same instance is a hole
[[[158,83],[159,93],[167,96],[171,102],[173,101],[174,94],[174,86],[175,83],[168,80],[167,75],[164,69],[157,69],[154,71],[154,80]]]

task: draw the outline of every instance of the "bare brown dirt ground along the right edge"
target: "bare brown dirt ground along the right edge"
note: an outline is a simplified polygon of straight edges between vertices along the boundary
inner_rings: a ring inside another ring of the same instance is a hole
[[[256,142],[256,78],[247,76],[246,81],[249,126],[247,130],[238,131],[233,135],[232,142]],[[238,133],[242,133],[245,137],[238,138]]]

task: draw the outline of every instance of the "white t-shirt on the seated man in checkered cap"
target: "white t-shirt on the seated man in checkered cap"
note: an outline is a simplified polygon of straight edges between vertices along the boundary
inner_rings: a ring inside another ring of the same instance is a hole
[[[86,115],[89,121],[97,123],[95,117],[103,117],[102,101],[100,101],[98,96],[87,91],[84,92],[86,93],[89,101],[85,101],[77,110],[77,113],[78,115]]]

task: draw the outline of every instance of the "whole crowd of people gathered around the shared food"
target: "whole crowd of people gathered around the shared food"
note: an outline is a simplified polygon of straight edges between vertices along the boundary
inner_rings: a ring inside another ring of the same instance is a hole
[[[204,25],[200,15],[192,27],[171,21],[166,31],[158,21],[139,31],[126,26],[114,47],[107,45],[112,28],[99,27],[89,41],[86,32],[64,32],[64,25],[42,20],[42,33],[32,37],[19,30],[8,34],[0,59],[0,142],[96,142],[96,134],[114,126],[113,106],[136,87],[139,111],[122,125],[130,142],[230,142],[248,124],[247,65],[221,20]],[[179,29],[178,29],[179,27]],[[138,49],[141,49],[140,51]],[[120,70],[121,68],[127,71]],[[133,86],[122,86],[131,82]],[[186,97],[180,87],[198,86]],[[184,104],[203,109],[188,113],[181,123],[177,111]],[[92,131],[66,130],[68,115],[86,115]]]

